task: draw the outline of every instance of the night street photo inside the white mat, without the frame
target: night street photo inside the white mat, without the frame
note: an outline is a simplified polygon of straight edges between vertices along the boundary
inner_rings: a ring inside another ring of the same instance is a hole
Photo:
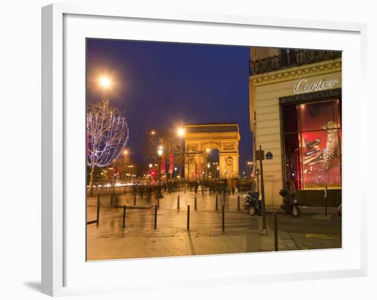
[[[341,52],[86,39],[86,259],[341,248]]]

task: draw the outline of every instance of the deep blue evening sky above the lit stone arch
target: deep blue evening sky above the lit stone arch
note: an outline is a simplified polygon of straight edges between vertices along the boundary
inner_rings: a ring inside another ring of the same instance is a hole
[[[240,171],[248,173],[249,59],[249,47],[88,39],[87,97],[94,101],[102,96],[99,75],[112,78],[110,103],[125,110],[130,127],[127,147],[138,161],[151,129],[239,123]]]

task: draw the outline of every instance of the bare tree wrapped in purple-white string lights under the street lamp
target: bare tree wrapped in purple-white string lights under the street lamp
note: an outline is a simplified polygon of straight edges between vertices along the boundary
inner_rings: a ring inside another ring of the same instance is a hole
[[[110,106],[108,98],[91,103],[86,114],[87,164],[90,194],[93,195],[95,166],[108,166],[117,160],[129,136],[125,114]]]

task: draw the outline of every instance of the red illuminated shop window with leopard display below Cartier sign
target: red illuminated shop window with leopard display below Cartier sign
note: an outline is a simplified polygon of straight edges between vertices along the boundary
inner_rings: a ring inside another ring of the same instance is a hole
[[[285,179],[297,190],[341,188],[339,99],[282,106]]]

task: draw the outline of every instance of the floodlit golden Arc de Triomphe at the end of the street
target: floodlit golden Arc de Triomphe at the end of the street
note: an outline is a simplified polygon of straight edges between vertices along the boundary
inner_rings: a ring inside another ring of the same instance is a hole
[[[204,179],[206,152],[219,150],[219,178],[239,177],[239,125],[236,123],[185,126],[184,178]]]

